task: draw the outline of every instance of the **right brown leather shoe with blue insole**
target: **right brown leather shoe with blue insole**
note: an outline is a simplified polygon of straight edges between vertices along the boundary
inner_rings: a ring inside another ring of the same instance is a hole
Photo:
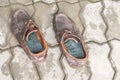
[[[57,14],[53,23],[56,38],[70,66],[83,66],[88,59],[88,53],[74,22],[64,14]]]

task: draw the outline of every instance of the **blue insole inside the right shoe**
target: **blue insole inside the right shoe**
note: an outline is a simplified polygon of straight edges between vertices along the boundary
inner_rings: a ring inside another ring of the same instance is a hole
[[[84,58],[85,53],[83,51],[82,44],[80,42],[75,42],[74,40],[70,39],[67,42],[65,42],[65,45],[68,49],[68,52],[76,57],[76,58]]]

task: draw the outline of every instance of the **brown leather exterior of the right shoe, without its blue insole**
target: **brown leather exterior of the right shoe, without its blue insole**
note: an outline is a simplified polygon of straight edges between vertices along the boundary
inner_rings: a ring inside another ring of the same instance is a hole
[[[66,50],[66,48],[63,47],[63,45],[62,45],[62,43],[64,43],[64,39],[69,38],[71,36],[71,34],[79,37],[79,30],[76,28],[74,22],[64,14],[56,14],[53,19],[53,28],[56,33],[57,41],[61,44],[62,51],[65,54],[68,63],[71,66],[77,66],[77,67],[84,65],[87,60],[87,55],[84,58],[84,60],[77,59],[73,56],[71,57],[70,54],[68,53],[68,51]],[[82,41],[82,40],[80,40],[80,41]],[[85,47],[84,47],[84,49],[85,49]],[[66,50],[67,52],[64,50]],[[86,53],[86,51],[85,51],[85,53]]]

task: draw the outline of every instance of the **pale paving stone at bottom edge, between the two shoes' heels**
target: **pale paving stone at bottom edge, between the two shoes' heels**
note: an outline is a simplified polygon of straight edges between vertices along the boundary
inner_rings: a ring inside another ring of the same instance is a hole
[[[41,80],[63,80],[64,73],[59,62],[60,56],[59,47],[48,49],[47,59],[43,63],[37,64]]]

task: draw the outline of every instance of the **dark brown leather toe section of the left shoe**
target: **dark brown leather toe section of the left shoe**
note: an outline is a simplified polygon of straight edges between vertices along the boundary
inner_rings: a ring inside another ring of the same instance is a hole
[[[11,20],[11,31],[19,39],[18,41],[21,41],[20,35],[23,35],[23,32],[26,30],[27,24],[25,22],[28,22],[29,19],[31,18],[26,11],[22,9],[14,11]]]

